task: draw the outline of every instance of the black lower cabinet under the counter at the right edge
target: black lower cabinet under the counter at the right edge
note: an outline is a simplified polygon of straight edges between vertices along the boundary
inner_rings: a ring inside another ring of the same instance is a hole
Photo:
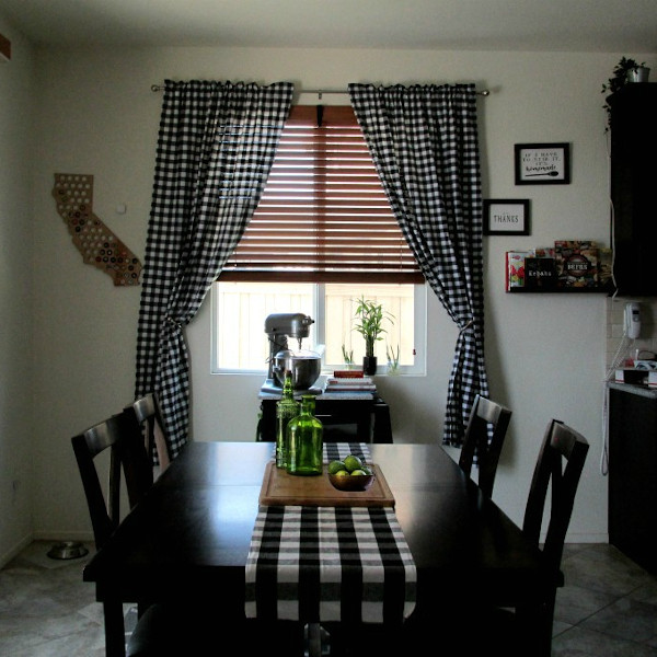
[[[609,390],[609,542],[657,573],[657,391]]]

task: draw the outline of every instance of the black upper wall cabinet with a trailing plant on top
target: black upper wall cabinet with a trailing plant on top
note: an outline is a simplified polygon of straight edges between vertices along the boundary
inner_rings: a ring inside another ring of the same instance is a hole
[[[608,100],[616,287],[657,296],[657,83],[630,83]]]

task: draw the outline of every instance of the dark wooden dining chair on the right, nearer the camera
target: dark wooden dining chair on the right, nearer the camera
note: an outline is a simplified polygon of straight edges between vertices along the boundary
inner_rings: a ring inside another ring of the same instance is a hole
[[[535,546],[545,573],[544,589],[533,591],[540,600],[538,622],[530,623],[522,607],[493,607],[486,600],[472,599],[465,590],[461,591],[463,598],[459,602],[454,599],[453,607],[417,610],[419,613],[405,623],[401,645],[410,654],[435,643],[436,636],[445,631],[458,637],[464,655],[550,657],[556,591],[564,586],[561,570],[564,543],[588,449],[586,438],[579,433],[557,419],[549,423],[522,521],[522,533]],[[549,489],[551,504],[544,518]],[[484,512],[485,508],[484,505]]]

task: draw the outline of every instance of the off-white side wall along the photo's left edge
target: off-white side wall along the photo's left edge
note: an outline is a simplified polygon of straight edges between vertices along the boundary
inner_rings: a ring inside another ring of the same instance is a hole
[[[0,18],[0,564],[31,540],[33,462],[33,51]],[[41,410],[38,411],[41,414]]]

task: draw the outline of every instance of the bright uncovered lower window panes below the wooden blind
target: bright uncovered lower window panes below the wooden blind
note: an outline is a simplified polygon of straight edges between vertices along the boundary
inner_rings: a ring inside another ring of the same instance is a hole
[[[269,346],[265,319],[272,313],[302,312],[314,320],[302,348],[322,354],[325,371],[343,368],[343,346],[362,362],[365,341],[353,330],[356,299],[381,303],[392,322],[384,322],[385,335],[377,344],[380,372],[385,371],[387,350],[400,354],[401,373],[424,373],[426,341],[426,288],[407,284],[215,284],[212,289],[212,371],[264,372]],[[290,348],[298,348],[290,344]]]

